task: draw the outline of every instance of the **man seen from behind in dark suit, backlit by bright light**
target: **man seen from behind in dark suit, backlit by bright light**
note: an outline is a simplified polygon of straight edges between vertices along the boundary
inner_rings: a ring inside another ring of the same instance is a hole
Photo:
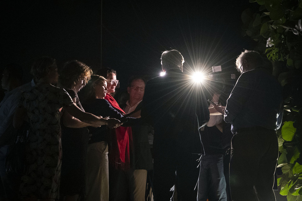
[[[199,128],[209,120],[203,87],[182,72],[177,50],[161,56],[164,76],[147,82],[142,118],[154,127],[154,201],[169,201],[176,185],[178,200],[197,200],[200,157]]]

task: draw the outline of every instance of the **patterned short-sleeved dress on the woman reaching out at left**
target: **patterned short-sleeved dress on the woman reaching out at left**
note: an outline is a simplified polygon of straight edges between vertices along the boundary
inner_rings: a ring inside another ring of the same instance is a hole
[[[30,122],[26,160],[20,194],[37,199],[58,199],[62,145],[60,110],[72,105],[68,93],[50,84],[37,84],[23,92],[19,105],[27,110]]]

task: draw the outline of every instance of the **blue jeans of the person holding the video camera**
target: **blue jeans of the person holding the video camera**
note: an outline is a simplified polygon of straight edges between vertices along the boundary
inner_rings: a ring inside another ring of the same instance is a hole
[[[226,201],[223,154],[201,157],[198,201]]]

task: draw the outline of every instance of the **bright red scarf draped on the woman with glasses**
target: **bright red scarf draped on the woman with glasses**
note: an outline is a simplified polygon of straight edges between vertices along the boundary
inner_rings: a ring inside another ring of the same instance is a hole
[[[114,109],[121,114],[125,114],[116,100],[110,94],[106,94],[105,99]],[[129,169],[129,149],[132,147],[131,127],[119,126],[110,130],[112,135],[112,148],[108,154],[109,164],[113,165],[116,169]]]

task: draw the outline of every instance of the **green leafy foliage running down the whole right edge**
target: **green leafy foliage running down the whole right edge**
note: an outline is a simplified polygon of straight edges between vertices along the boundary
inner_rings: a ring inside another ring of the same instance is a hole
[[[283,87],[282,128],[277,130],[280,194],[302,201],[302,0],[249,0],[259,11],[243,11],[243,36],[274,61],[273,75]]]

